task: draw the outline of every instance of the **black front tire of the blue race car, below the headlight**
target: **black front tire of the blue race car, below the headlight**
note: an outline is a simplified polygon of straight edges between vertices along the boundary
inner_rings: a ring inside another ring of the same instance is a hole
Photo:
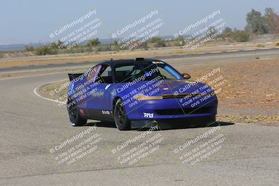
[[[130,120],[126,116],[125,107],[121,99],[116,101],[114,107],[114,122],[119,130],[130,130]]]

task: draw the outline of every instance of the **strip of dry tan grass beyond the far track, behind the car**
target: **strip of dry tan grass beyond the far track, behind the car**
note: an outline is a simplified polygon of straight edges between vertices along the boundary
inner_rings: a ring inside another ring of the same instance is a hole
[[[184,49],[183,47],[169,47],[158,48],[149,50],[135,50],[135,51],[120,51],[112,52],[114,59],[133,59],[136,57],[145,56],[146,58],[155,56],[171,56],[183,54],[196,54],[203,52],[222,52],[227,50],[236,49],[257,49],[255,43],[248,43],[246,45],[227,45],[226,47],[219,45],[205,45],[198,49]],[[274,47],[274,43],[265,44],[266,47]],[[53,55],[53,56],[29,56],[20,58],[1,59],[0,68],[9,68],[15,66],[28,66],[28,65],[46,65],[46,64],[59,64],[59,63],[79,63],[83,61],[103,61],[110,59],[110,52],[99,53],[84,53],[84,54],[70,54],[70,55]]]

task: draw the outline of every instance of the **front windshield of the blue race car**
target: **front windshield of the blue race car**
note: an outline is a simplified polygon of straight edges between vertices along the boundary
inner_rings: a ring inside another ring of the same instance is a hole
[[[150,61],[117,65],[115,68],[116,83],[150,81],[152,79],[183,79],[170,65],[163,61]]]

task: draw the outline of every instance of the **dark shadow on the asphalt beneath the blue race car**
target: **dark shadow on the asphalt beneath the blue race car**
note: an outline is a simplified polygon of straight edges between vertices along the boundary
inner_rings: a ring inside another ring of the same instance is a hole
[[[167,124],[167,125],[165,125]],[[159,130],[181,130],[181,129],[190,129],[190,128],[204,128],[204,127],[217,127],[217,126],[227,126],[227,125],[234,125],[234,123],[230,122],[224,122],[224,121],[216,121],[214,123],[209,124],[199,124],[196,125],[193,124],[174,124],[174,123],[158,123]],[[96,126],[96,127],[110,127],[110,128],[116,128],[116,125],[114,122],[105,122],[105,121],[97,121],[97,122],[91,122],[87,123],[85,126]],[[139,131],[146,131],[149,130],[150,127],[142,127],[142,128],[135,128],[132,130],[139,130]]]

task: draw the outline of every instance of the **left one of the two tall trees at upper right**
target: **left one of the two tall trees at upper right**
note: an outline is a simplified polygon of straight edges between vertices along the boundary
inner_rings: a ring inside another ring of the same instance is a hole
[[[254,9],[246,15],[246,31],[250,33],[268,33],[266,24],[264,23],[264,17],[262,14]]]

